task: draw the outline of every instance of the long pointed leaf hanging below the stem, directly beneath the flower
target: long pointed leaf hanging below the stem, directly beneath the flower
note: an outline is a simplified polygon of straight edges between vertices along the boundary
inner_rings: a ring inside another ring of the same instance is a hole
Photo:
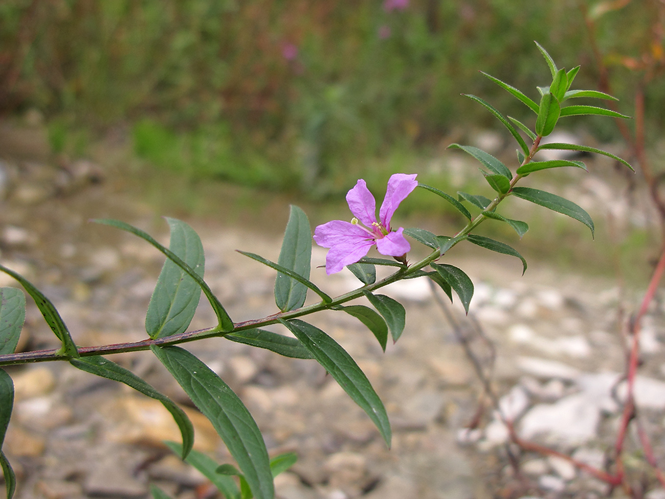
[[[287,326],[296,338],[303,342],[317,362],[323,365],[340,387],[367,413],[390,447],[392,433],[386,408],[367,377],[346,350],[325,332],[307,322],[297,319],[289,322],[280,319],[279,322]]]

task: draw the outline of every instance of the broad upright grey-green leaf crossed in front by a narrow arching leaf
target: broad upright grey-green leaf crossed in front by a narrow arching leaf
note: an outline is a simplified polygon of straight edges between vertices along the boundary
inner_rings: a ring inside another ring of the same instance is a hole
[[[186,223],[166,217],[171,229],[169,249],[203,278],[205,256],[198,234]],[[146,332],[153,340],[185,332],[194,318],[201,288],[172,260],[162,266],[146,313]]]

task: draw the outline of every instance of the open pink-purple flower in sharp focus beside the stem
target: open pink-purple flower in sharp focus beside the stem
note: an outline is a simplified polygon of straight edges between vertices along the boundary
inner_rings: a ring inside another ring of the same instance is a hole
[[[395,173],[388,180],[388,189],[384,197],[379,217],[376,218],[374,196],[367,189],[364,180],[358,180],[356,186],[346,194],[348,208],[353,213],[351,222],[333,220],[319,225],[314,231],[317,245],[330,248],[326,255],[326,273],[339,272],[346,265],[357,262],[376,245],[381,254],[387,256],[403,256],[411,249],[404,239],[400,227],[392,232],[390,219],[404,199],[418,186],[416,173],[406,175]],[[365,227],[358,224],[361,221]]]

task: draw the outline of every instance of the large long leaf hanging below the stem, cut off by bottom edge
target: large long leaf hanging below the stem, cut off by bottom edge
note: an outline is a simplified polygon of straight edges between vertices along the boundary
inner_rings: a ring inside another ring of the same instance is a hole
[[[226,444],[257,499],[275,493],[268,451],[254,419],[233,390],[203,361],[179,347],[151,346]]]

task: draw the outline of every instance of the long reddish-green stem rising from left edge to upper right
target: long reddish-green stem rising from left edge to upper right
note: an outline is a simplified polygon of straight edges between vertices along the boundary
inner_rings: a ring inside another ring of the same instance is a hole
[[[529,155],[524,158],[524,161],[522,161],[521,165],[525,165],[529,163],[529,161],[531,161],[533,155],[538,150],[540,141],[541,137],[539,136],[533,142],[533,146],[531,146]],[[491,203],[489,203],[487,208],[485,208],[485,211],[493,211],[494,209],[496,209],[499,203],[501,203],[503,199],[505,199],[507,196],[510,195],[510,190],[522,177],[523,175],[515,175],[515,177],[513,177],[513,179],[510,182],[510,189],[507,191],[507,193],[499,194],[497,197],[495,197],[495,199]],[[473,229],[475,229],[486,218],[487,217],[485,217],[485,215],[481,213],[477,215],[477,217],[475,217],[473,220],[469,221],[467,225],[464,227],[464,229],[462,229],[460,232],[458,232],[455,235],[454,239],[456,241],[454,241],[451,248],[457,245],[460,241],[463,241],[464,237],[469,235],[471,231],[473,231]],[[393,282],[402,280],[403,278],[407,278],[414,272],[417,272],[418,270],[421,270],[422,268],[428,266],[430,263],[434,262],[435,260],[438,260],[438,258],[440,257],[441,257],[441,252],[440,250],[436,249],[432,251],[430,254],[428,254],[425,258],[422,258],[422,260],[419,260],[418,262],[415,262],[414,264],[411,264],[408,267],[400,268],[400,270],[394,272],[394,274],[390,274],[390,276],[384,277],[383,279],[380,279],[374,282],[373,284],[367,284],[366,286],[362,286],[362,288],[358,288],[348,293],[341,294],[340,296],[334,298],[332,302],[321,301],[315,304],[298,308],[296,310],[291,310],[290,312],[278,312],[277,314],[272,314],[270,316],[261,319],[253,319],[253,320],[246,320],[243,322],[237,322],[233,324],[233,330],[231,331],[222,332],[221,330],[219,330],[218,327],[205,328],[196,331],[188,331],[181,334],[174,334],[173,336],[168,336],[166,338],[156,338],[155,340],[148,339],[148,340],[142,340],[140,342],[127,342],[127,343],[118,343],[118,344],[111,344],[104,346],[80,347],[78,348],[78,353],[81,357],[88,357],[91,355],[111,355],[113,353],[126,353],[129,351],[148,350],[152,345],[170,346],[187,342],[194,342],[196,340],[203,340],[205,338],[223,338],[223,336],[226,336],[227,334],[232,332],[262,328],[264,326],[269,326],[271,324],[277,324],[279,323],[280,320],[290,320],[290,319],[295,319],[297,317],[314,314],[315,312],[321,312],[322,310],[330,310],[335,306],[341,305],[350,300],[355,300],[356,298],[360,298],[361,296],[364,295],[364,292],[373,292],[374,290],[378,290],[379,288],[387,286],[388,284],[392,284]],[[67,355],[63,355],[60,349],[35,350],[35,351],[0,355],[0,366],[45,362],[45,361],[54,361],[54,360],[66,361],[68,359],[69,357]]]

